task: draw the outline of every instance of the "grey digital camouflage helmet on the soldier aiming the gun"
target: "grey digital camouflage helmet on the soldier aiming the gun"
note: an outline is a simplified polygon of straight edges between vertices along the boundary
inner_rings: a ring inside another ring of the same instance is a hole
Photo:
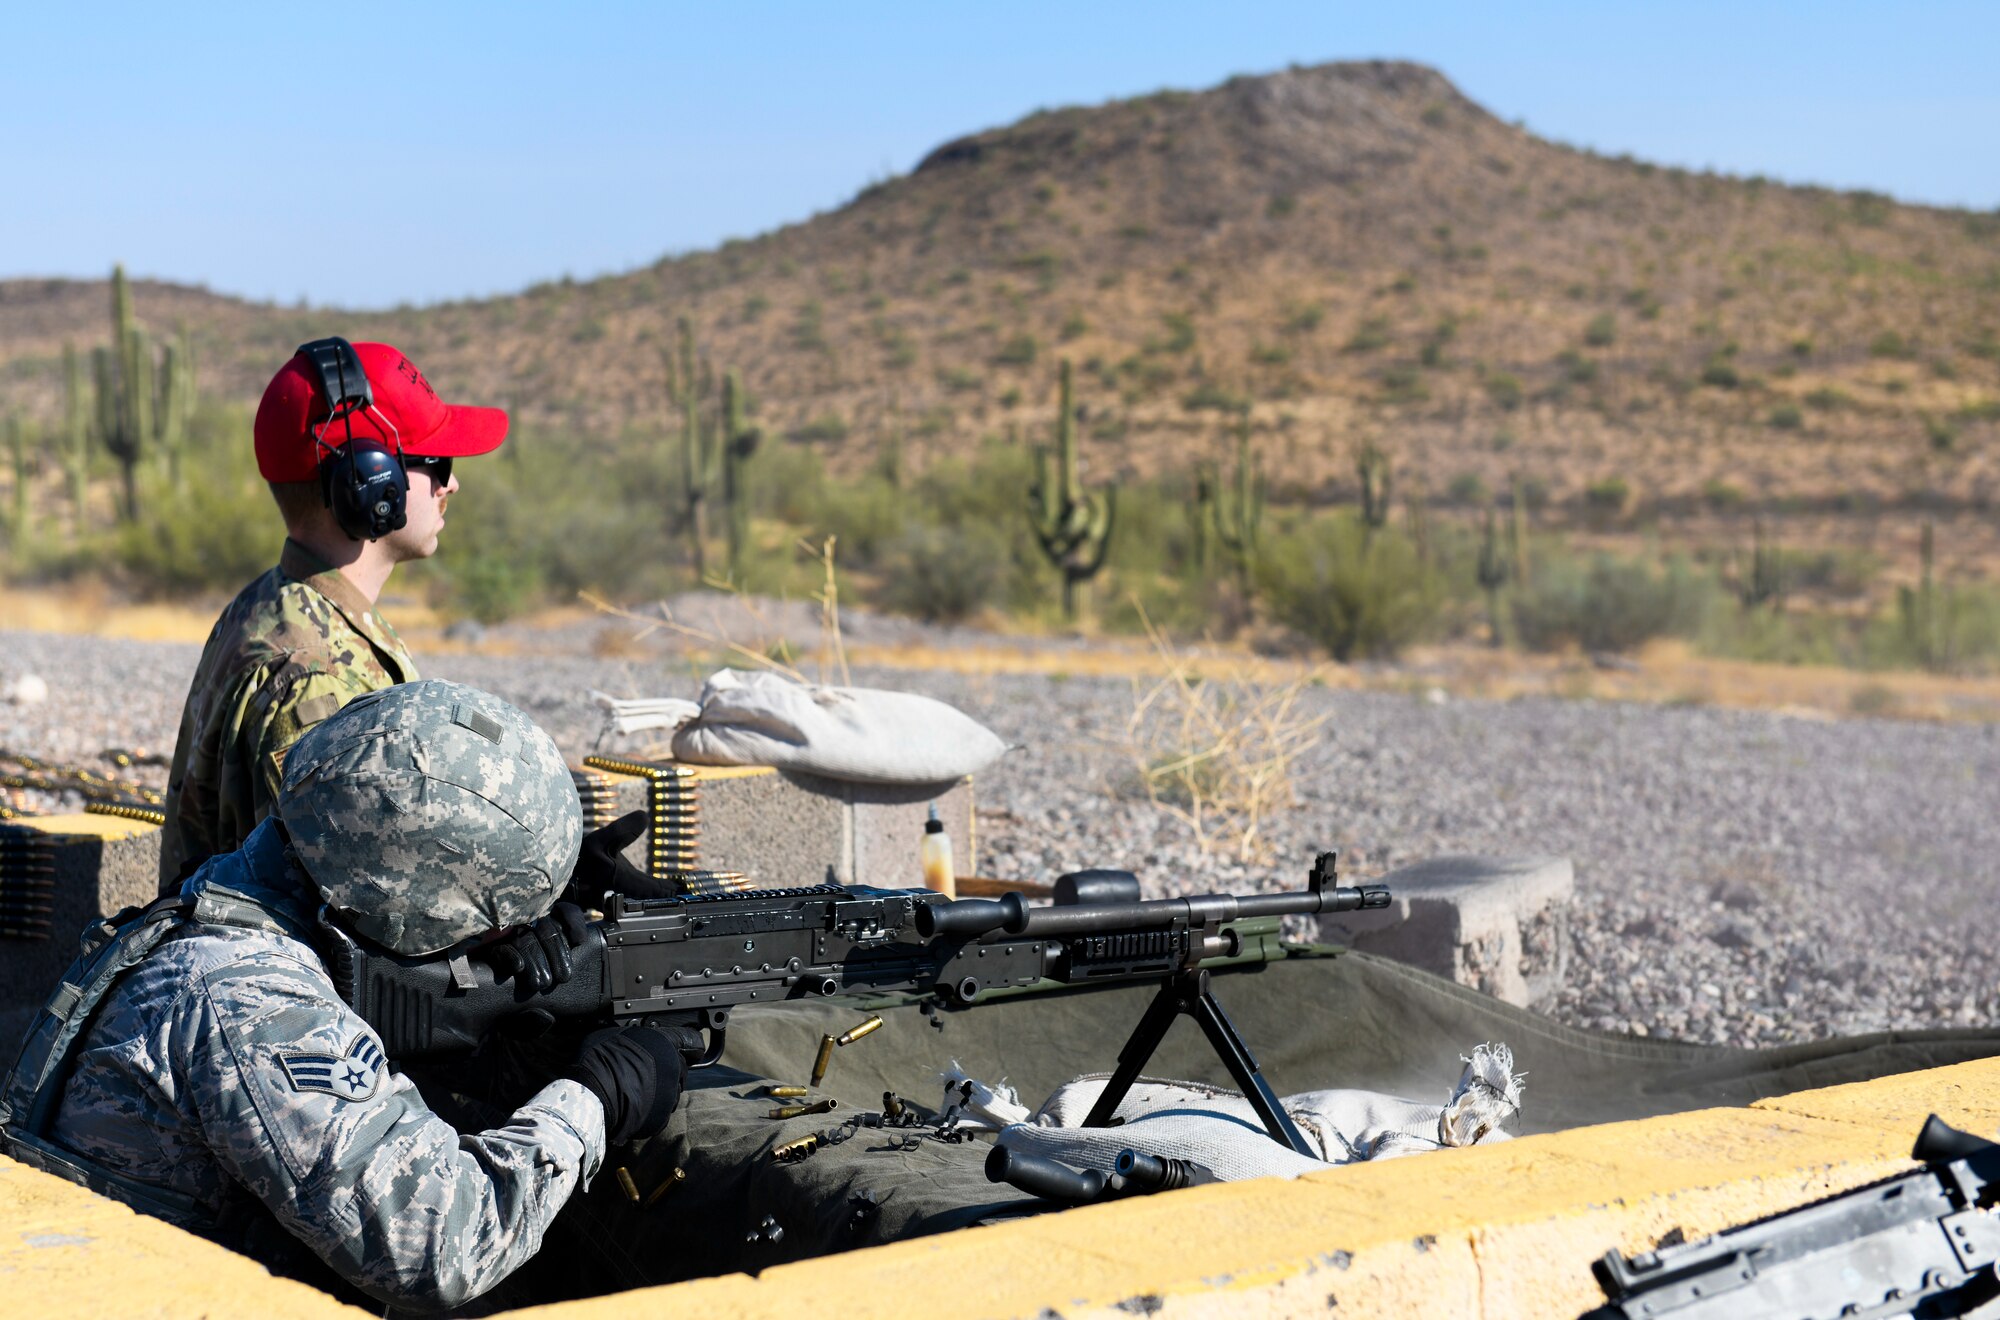
[[[576,782],[554,738],[490,692],[370,692],[284,758],[278,816],[352,930],[398,954],[532,922],[576,868]]]

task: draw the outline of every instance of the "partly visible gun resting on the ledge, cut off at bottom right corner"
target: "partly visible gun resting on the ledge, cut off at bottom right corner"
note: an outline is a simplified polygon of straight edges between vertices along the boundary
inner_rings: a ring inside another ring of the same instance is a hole
[[[1924,1168],[1592,1272],[1610,1298],[1586,1320],[2000,1316],[2000,1146],[1936,1114]]]

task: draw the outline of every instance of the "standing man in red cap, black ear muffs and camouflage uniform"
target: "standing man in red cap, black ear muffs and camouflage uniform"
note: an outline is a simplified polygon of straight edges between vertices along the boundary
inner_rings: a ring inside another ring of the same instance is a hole
[[[264,388],[256,462],[284,554],[216,620],[166,784],[160,892],[270,814],[284,756],[344,704],[416,678],[376,612],[390,572],[438,552],[452,460],[506,438],[506,412],[446,404],[388,344],[300,346]]]

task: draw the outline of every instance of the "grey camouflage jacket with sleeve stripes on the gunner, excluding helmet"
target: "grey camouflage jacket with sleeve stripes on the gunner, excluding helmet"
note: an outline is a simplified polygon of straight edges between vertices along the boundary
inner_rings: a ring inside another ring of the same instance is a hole
[[[344,1280],[402,1306],[456,1306],[534,1256],[604,1160],[596,1096],[552,1082],[488,1132],[432,1114],[306,942],[318,894],[288,870],[276,822],[186,892],[260,924],[198,912],[124,976],[52,1136],[218,1224],[240,1220],[248,1192]]]

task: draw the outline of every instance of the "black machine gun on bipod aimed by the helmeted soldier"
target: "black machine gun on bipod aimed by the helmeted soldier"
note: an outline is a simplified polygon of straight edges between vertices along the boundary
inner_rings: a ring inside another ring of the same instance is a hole
[[[930,890],[838,884],[614,896],[612,910],[572,950],[570,980],[546,992],[522,978],[496,980],[478,950],[404,958],[358,944],[336,922],[322,920],[322,930],[334,984],[380,1032],[390,1058],[468,1052],[510,1018],[540,1010],[552,1018],[684,1022],[708,1034],[704,1066],[722,1058],[730,1012],[744,1004],[882,990],[972,1004],[990,990],[1042,980],[1162,978],[1088,1122],[1110,1122],[1174,1018],[1188,1014],[1270,1134],[1312,1154],[1200,964],[1238,952],[1230,924],[1244,918],[1388,906],[1380,884],[1334,880],[1334,854],[1322,852],[1308,888],[1288,894],[1142,900],[1130,872],[1086,870],[1062,876],[1048,908],[1032,908],[1020,894],[948,900]]]

